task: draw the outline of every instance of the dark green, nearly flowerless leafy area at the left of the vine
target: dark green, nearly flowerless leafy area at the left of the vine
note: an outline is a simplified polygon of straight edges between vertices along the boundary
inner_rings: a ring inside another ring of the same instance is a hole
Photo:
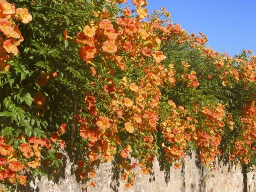
[[[19,54],[9,60],[10,70],[0,74],[0,135],[9,144],[16,142],[20,134],[25,137],[49,138],[62,123],[74,124],[74,114],[84,106],[84,90],[91,89],[90,68],[77,54],[78,46],[71,39],[63,43],[63,31],[76,36],[82,26],[97,20],[94,15],[105,8],[113,15],[118,8],[102,0],[11,0],[16,7],[27,8],[33,16],[29,24],[20,23],[24,42]],[[53,78],[51,72],[57,72]],[[36,84],[42,73],[50,77],[44,87]],[[33,102],[37,92],[46,96],[44,110]],[[68,126],[72,129],[72,126]],[[66,142],[78,134],[67,135]],[[18,145],[16,145],[18,147]],[[56,146],[45,151],[45,160],[52,168],[42,165],[33,175],[58,170],[62,161],[56,158]]]

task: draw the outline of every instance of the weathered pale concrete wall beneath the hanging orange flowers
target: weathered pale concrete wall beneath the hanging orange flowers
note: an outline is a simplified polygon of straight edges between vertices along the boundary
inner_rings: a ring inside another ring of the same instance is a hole
[[[127,192],[243,192],[247,182],[247,191],[256,192],[256,169],[243,175],[240,166],[218,166],[217,170],[209,171],[196,166],[196,155],[187,156],[182,169],[170,169],[170,172],[160,171],[157,161],[154,162],[152,175],[136,178],[134,186]],[[71,174],[72,163],[67,158],[65,178],[60,178],[58,184],[42,177],[30,183],[26,192],[82,192],[83,184],[76,181]],[[87,192],[124,192],[123,183],[114,179],[112,165],[102,164],[97,170],[96,188],[87,187]],[[246,178],[247,177],[247,178]],[[84,190],[84,191],[86,191]]]

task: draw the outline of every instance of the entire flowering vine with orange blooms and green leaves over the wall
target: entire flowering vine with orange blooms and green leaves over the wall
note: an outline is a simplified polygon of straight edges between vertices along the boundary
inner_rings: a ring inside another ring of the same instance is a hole
[[[158,158],[256,164],[256,57],[206,47],[146,0],[0,0],[0,182],[59,174],[71,146],[76,175],[115,162],[124,188]],[[135,160],[135,161],[134,161]],[[28,180],[28,181],[27,181]]]

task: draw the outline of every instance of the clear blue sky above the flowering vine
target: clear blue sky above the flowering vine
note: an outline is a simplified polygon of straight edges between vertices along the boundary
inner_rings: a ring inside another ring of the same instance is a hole
[[[205,34],[215,51],[256,54],[256,0],[148,0],[150,13],[161,6],[186,31]]]

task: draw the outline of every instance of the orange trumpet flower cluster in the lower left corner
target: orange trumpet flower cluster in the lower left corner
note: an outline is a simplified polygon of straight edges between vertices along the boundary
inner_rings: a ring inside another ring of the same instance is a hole
[[[10,144],[6,144],[0,136],[0,181],[8,180],[12,184],[22,184],[26,186],[26,178],[22,174],[22,170],[28,172],[28,168],[35,169],[41,166],[41,150],[42,148],[50,149],[51,142],[45,138],[28,138],[26,142],[23,136],[20,137],[23,141],[19,146],[19,151],[14,150]],[[26,161],[19,160],[18,154],[22,154]]]

